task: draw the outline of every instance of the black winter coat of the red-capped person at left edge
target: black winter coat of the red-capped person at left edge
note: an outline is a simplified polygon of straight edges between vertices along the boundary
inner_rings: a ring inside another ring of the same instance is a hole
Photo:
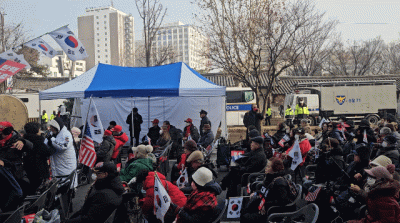
[[[16,131],[13,131],[11,134],[11,138],[4,146],[0,145],[0,160],[4,162],[4,167],[7,168],[16,179],[22,179],[24,177],[22,155],[24,152],[31,150],[33,144],[29,140],[21,138],[21,135]],[[22,150],[11,148],[17,141],[22,141],[24,143]]]

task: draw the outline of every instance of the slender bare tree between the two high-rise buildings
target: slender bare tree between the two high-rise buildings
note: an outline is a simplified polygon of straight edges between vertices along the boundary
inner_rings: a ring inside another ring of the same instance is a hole
[[[146,67],[151,66],[156,36],[167,13],[160,0],[135,0],[136,8],[143,22],[144,56]]]

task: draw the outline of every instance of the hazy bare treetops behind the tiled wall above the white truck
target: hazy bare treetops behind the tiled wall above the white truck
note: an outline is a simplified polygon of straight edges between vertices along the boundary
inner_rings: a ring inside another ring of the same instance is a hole
[[[341,76],[384,74],[385,49],[386,45],[379,37],[367,41],[349,42],[348,46],[337,40],[324,69],[330,75]]]

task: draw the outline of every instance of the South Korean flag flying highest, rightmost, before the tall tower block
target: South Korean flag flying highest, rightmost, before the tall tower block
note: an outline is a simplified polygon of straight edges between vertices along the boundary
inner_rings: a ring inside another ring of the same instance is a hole
[[[82,43],[67,26],[54,30],[49,35],[53,37],[72,61],[83,60],[88,57]]]

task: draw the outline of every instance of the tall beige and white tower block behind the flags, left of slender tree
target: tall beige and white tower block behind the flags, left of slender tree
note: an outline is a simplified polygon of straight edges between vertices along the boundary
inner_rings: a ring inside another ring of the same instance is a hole
[[[117,66],[133,66],[134,19],[114,7],[86,9],[78,17],[78,37],[85,46],[89,57],[89,70],[98,63]]]

